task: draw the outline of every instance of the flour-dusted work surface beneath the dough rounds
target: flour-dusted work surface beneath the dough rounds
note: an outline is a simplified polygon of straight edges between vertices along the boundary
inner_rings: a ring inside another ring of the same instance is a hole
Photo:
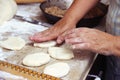
[[[31,41],[28,39],[30,35],[33,35],[36,32],[46,30],[51,26],[50,24],[46,23],[46,19],[41,13],[39,5],[40,4],[38,3],[18,5],[18,11],[16,13],[16,15],[23,16],[27,19],[32,18],[35,20],[39,20],[39,24],[31,24],[26,21],[21,21],[17,18],[13,18],[0,26],[0,40],[6,39],[8,36],[20,36],[26,41],[26,46],[20,51],[11,51],[0,48],[0,60],[26,67],[22,65],[22,59],[25,55],[38,51],[47,52],[47,49],[33,47],[31,45]],[[98,28],[104,30],[103,27],[99,26]],[[62,47],[64,47],[64,45],[62,45]],[[67,62],[70,65],[71,69],[70,73],[62,78],[63,80],[85,80],[89,70],[91,69],[92,64],[97,57],[97,54],[91,52],[75,51],[74,55],[74,59],[69,61],[63,61]],[[58,61],[59,60],[52,59],[49,64]],[[42,72],[45,66],[46,65],[37,68],[27,68]],[[0,71],[0,77],[5,78],[6,80],[27,80],[26,78],[21,78],[19,76],[15,76],[3,71]]]

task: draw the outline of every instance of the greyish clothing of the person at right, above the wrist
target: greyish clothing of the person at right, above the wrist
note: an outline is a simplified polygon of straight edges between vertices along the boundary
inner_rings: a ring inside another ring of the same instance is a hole
[[[106,31],[113,35],[120,35],[120,0],[110,0]]]

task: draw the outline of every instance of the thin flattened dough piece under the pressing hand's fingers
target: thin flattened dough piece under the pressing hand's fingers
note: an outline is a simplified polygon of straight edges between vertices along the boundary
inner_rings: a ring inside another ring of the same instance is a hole
[[[52,47],[55,46],[57,43],[56,41],[47,41],[47,42],[42,42],[42,43],[34,43],[34,46],[36,47]]]

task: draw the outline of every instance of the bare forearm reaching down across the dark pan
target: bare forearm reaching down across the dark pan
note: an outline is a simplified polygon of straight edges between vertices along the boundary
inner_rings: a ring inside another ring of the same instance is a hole
[[[76,24],[99,0],[74,0],[64,18]]]

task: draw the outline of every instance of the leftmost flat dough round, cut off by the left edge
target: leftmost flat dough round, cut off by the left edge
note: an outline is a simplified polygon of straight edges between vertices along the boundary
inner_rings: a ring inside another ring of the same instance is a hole
[[[9,37],[7,40],[0,41],[0,46],[10,50],[20,50],[25,46],[25,40],[20,37]]]

